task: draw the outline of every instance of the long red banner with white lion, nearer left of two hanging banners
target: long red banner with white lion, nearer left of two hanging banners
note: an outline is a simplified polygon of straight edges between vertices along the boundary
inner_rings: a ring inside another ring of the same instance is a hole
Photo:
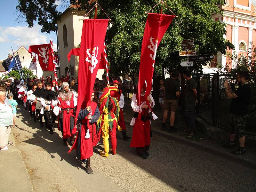
[[[77,109],[81,108],[84,100],[86,106],[91,103],[92,89],[99,68],[107,26],[108,20],[85,19],[83,22],[78,69]],[[76,119],[78,113],[79,110],[76,111]]]

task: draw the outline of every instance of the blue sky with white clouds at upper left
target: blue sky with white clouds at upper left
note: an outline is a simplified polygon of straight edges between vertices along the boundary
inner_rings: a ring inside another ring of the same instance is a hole
[[[66,1],[67,2],[67,1]],[[63,1],[57,1],[58,11],[63,12],[66,6],[61,6]],[[68,1],[69,3],[69,1]],[[16,51],[21,45],[28,49],[29,45],[50,43],[53,39],[53,49],[57,51],[56,32],[41,33],[41,26],[35,23],[33,28],[28,28],[25,19],[23,22],[15,21],[19,15],[16,10],[18,0],[1,0],[0,12],[0,60],[7,58],[13,48]],[[3,9],[4,8],[4,9]]]

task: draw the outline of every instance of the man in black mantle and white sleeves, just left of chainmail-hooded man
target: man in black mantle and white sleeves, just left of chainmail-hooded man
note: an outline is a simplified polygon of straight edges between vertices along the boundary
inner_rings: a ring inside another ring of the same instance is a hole
[[[41,95],[41,104],[44,107],[44,120],[45,127],[50,129],[50,134],[53,134],[54,127],[53,124],[56,120],[56,115],[53,113],[54,106],[57,105],[56,93],[51,90],[51,84],[45,83],[45,90],[43,90]],[[43,109],[41,109],[43,110]],[[42,113],[42,112],[41,112]]]

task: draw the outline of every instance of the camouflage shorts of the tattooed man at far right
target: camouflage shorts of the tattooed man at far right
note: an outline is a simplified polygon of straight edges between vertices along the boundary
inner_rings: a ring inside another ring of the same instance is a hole
[[[243,137],[245,132],[246,115],[234,115],[230,113],[229,133],[236,134],[237,137]]]

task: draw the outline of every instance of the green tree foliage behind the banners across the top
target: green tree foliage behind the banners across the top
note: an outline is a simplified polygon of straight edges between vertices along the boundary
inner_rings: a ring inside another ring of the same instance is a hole
[[[19,1],[35,2],[35,0]],[[49,2],[50,6],[50,2],[53,2],[53,0],[44,2]],[[147,15],[144,12],[151,9],[158,2],[158,0],[98,0],[100,6],[112,20],[111,28],[107,30],[106,34],[111,73],[120,74],[121,71],[138,71],[142,38],[147,20]],[[80,5],[80,9],[89,11],[95,1],[70,0],[70,3]],[[156,72],[161,74],[163,68],[167,71],[172,68],[181,68],[180,62],[186,60],[186,57],[180,57],[178,54],[181,50],[182,39],[194,38],[197,54],[212,53],[216,55],[218,52],[225,54],[227,47],[234,48],[223,37],[223,34],[226,34],[225,24],[212,19],[212,13],[221,13],[218,5],[223,4],[223,0],[166,0],[165,3],[178,18],[173,19],[159,44],[156,54]],[[28,4],[26,3],[26,5]],[[156,6],[151,12],[159,12],[160,6]],[[28,9],[26,6],[23,7],[23,11]],[[59,19],[57,17],[59,13],[53,10],[55,7],[51,4],[49,10],[53,13],[49,14],[53,14],[54,17],[45,26],[43,25],[44,29],[42,30],[47,31],[48,25]],[[41,10],[45,9],[41,8]],[[26,16],[27,20],[29,18],[36,19],[39,16],[38,12],[30,12],[29,16]],[[172,14],[165,6],[163,13]],[[99,19],[107,18],[100,8],[97,14]],[[90,18],[94,18],[94,11],[91,12]],[[28,21],[31,21],[31,19]],[[47,20],[44,22],[47,22]],[[49,27],[49,30],[52,29],[52,27]],[[200,71],[202,65],[205,65],[205,63],[197,62],[196,65],[194,64],[194,70]]]

